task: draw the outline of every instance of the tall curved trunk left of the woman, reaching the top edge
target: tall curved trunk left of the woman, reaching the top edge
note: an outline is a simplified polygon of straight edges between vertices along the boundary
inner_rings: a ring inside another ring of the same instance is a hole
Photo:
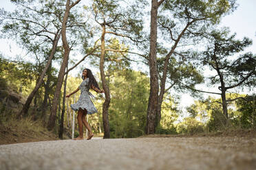
[[[56,111],[57,111],[57,108],[58,108],[58,98],[59,98],[60,93],[61,93],[61,86],[63,84],[65,68],[67,67],[67,61],[68,61],[68,58],[70,56],[70,47],[67,43],[67,37],[66,37],[66,27],[67,27],[66,23],[67,23],[68,16],[70,14],[70,9],[74,5],[76,5],[79,1],[81,1],[81,0],[76,1],[72,5],[70,5],[70,0],[67,0],[67,3],[66,3],[66,10],[65,10],[64,17],[63,17],[63,23],[62,23],[62,28],[61,28],[61,38],[62,38],[63,48],[64,48],[64,57],[63,57],[63,62],[61,64],[61,69],[58,72],[58,80],[57,80],[57,85],[56,85],[56,91],[54,93],[54,99],[52,101],[52,111],[50,113],[50,117],[49,117],[49,121],[48,121],[48,125],[47,125],[48,130],[52,130],[54,125],[55,125]]]

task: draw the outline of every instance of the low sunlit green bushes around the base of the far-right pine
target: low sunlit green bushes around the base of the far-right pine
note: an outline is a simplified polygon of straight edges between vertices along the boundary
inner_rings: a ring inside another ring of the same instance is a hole
[[[204,123],[206,132],[217,132],[220,130],[233,129],[248,129],[255,128],[255,95],[239,95],[228,93],[227,99],[239,98],[236,101],[228,104],[229,126],[225,125],[226,117],[222,113],[221,99],[209,97],[202,101],[195,101],[195,104],[189,106],[187,111],[190,113],[191,119],[200,120]],[[178,125],[180,126],[180,125]],[[178,127],[178,132],[187,132],[186,126]]]

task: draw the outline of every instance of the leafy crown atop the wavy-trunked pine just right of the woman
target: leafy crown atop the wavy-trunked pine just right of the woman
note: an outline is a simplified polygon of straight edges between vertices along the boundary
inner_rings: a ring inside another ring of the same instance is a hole
[[[96,25],[91,34],[101,36],[104,26],[106,42],[111,38],[118,38],[120,43],[127,42],[130,47],[134,42],[141,42],[143,40],[142,16],[144,14],[141,10],[143,6],[140,1],[93,0],[89,9],[91,9],[93,15],[92,19],[94,21],[92,22]]]

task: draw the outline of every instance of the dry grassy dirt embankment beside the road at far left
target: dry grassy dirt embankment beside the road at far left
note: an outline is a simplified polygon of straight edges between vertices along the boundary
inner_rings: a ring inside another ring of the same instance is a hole
[[[0,87],[0,145],[57,140],[58,135],[43,125],[44,120],[32,116],[17,119],[23,104],[25,98],[20,93]]]

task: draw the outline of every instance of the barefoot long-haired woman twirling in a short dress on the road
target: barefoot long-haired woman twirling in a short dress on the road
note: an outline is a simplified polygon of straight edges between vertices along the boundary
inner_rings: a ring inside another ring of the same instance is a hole
[[[89,135],[87,140],[91,139],[94,134],[92,133],[92,128],[89,126],[89,123],[85,121],[86,114],[93,114],[97,112],[90,96],[93,97],[92,93],[89,93],[89,89],[92,88],[97,93],[104,93],[104,90],[100,90],[98,84],[92,75],[92,71],[90,69],[84,69],[82,73],[83,82],[78,86],[74,92],[70,93],[66,97],[70,97],[78,90],[81,90],[81,95],[76,102],[76,104],[70,105],[72,110],[78,111],[77,120],[78,120],[78,127],[79,127],[79,136],[74,138],[74,140],[83,140],[83,124],[87,128]]]

